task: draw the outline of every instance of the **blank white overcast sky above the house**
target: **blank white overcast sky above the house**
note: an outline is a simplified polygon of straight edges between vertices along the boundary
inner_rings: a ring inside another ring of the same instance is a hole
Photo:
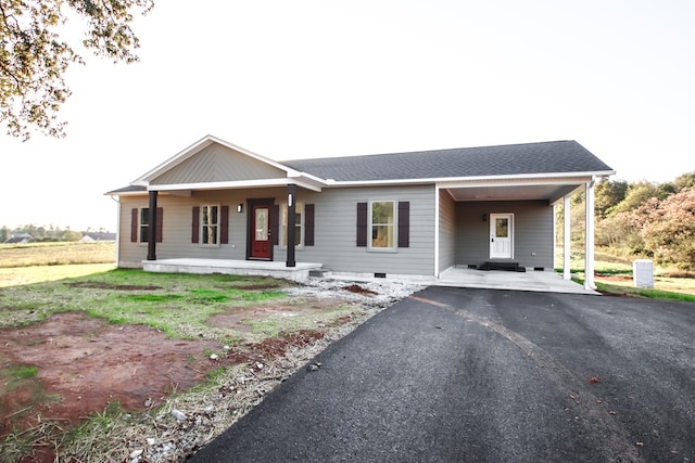
[[[208,133],[277,160],[577,140],[671,181],[695,171],[693,24],[692,0],[160,0],[140,63],[71,69],[67,138],[0,127],[0,227],[115,231],[103,193]]]

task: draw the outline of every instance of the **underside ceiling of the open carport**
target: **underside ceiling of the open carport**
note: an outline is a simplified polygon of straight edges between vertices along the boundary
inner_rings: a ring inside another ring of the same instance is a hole
[[[522,201],[545,200],[554,203],[582,184],[534,184],[514,187],[447,188],[455,201]]]

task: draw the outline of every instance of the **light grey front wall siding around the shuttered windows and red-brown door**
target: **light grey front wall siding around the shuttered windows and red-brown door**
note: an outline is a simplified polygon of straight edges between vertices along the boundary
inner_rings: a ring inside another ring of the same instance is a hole
[[[250,198],[274,198],[286,204],[283,188],[194,191],[190,197],[160,194],[163,209],[162,242],[156,243],[157,259],[167,258],[247,258],[247,216]],[[369,201],[410,203],[409,247],[393,252],[368,250],[356,245],[356,205]],[[130,242],[130,209],[148,207],[148,196],[122,196],[121,267],[141,267],[147,243]],[[323,263],[325,270],[350,273],[434,274],[434,187],[326,189],[320,193],[300,189],[298,203],[315,205],[314,246],[296,248],[295,260]],[[237,204],[243,204],[242,214]],[[229,244],[204,247],[191,243],[191,217],[194,206],[229,206]],[[273,260],[285,261],[287,249],[274,246]]]

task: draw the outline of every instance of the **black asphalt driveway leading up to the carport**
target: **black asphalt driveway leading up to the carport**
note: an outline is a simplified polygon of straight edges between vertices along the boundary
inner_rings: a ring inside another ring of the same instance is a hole
[[[430,287],[192,462],[695,462],[695,305]]]

